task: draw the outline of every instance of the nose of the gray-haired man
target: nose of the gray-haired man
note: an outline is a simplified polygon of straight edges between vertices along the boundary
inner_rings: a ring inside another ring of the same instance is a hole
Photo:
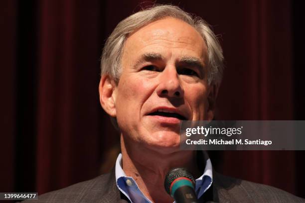
[[[174,67],[165,68],[160,74],[156,89],[159,97],[182,98],[184,91],[181,87],[179,75]]]

